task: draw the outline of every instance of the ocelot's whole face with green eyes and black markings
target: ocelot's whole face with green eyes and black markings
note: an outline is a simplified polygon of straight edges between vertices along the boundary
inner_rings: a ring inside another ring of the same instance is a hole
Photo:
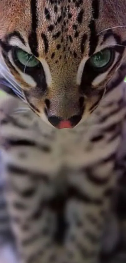
[[[40,118],[73,128],[126,75],[125,14],[125,0],[1,0],[1,71]]]

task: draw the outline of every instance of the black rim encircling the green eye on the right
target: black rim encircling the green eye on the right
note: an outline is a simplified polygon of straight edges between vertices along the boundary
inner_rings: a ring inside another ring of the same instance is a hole
[[[93,71],[96,71],[96,72],[99,72],[99,73],[104,73],[105,71],[108,70],[108,68],[110,66],[112,66],[113,64],[113,61],[114,61],[114,58],[115,58],[115,51],[113,48],[107,48],[107,49],[104,49],[101,51],[101,54],[104,54],[104,52],[108,51],[110,53],[110,58],[108,60],[108,62],[104,65],[104,66],[94,66],[93,63],[91,62],[91,59],[94,57],[94,56],[97,56],[98,54],[100,54],[100,52],[96,53],[95,55],[93,55],[92,57],[90,57],[87,61],[87,65],[93,70]]]

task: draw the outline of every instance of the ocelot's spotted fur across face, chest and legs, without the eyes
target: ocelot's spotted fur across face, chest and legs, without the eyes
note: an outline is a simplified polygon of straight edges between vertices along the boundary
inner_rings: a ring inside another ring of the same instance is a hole
[[[0,103],[2,177],[22,263],[98,262],[125,172],[125,13],[125,0],[0,2],[1,82],[22,99]],[[21,69],[15,47],[39,67]],[[105,48],[110,67],[93,71],[89,58]],[[78,125],[58,130],[59,121]]]

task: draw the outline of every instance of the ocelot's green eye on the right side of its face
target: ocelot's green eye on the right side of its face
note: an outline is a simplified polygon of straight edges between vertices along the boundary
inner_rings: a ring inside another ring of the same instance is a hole
[[[112,57],[112,52],[110,49],[105,49],[103,51],[100,51],[93,55],[90,59],[89,62],[93,68],[96,69],[102,69],[103,67],[108,66],[110,60]]]

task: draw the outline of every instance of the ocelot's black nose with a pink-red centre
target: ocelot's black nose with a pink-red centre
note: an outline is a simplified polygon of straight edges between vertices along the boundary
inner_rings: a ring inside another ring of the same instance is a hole
[[[78,122],[81,120],[82,115],[74,115],[68,120],[63,120],[57,116],[51,116],[48,118],[48,121],[56,128],[58,129],[64,129],[64,128],[73,128],[78,124]]]

